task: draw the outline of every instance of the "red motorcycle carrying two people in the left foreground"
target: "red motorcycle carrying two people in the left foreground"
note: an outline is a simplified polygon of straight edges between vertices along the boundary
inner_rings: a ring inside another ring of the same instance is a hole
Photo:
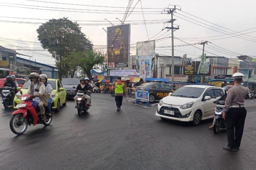
[[[38,92],[39,90],[35,89],[35,91]],[[35,107],[33,106],[33,101],[31,101],[33,98],[35,98],[35,96],[29,94],[22,95],[21,90],[20,94],[20,99],[22,100],[22,102],[16,106],[19,107],[19,109],[12,113],[13,116],[10,120],[10,128],[12,132],[16,135],[21,135],[27,130],[28,125],[50,125],[52,122],[52,115],[50,116],[48,114],[45,114],[46,120],[41,120],[42,115],[39,115],[39,112],[37,112]]]

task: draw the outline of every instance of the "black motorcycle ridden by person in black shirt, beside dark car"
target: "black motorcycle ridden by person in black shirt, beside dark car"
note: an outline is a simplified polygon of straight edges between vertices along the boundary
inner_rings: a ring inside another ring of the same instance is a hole
[[[85,91],[78,91],[76,93],[76,104],[77,104],[77,113],[78,115],[82,115],[82,112],[86,112],[90,107],[85,106],[86,99],[84,98],[87,92]]]

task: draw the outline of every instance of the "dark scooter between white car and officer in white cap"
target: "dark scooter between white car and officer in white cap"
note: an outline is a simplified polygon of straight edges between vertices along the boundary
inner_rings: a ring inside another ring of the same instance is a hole
[[[214,115],[215,115],[215,122],[213,125],[213,131],[214,133],[218,133],[220,131],[220,128],[224,129],[226,128],[226,121],[222,117],[223,113],[223,107],[225,106],[225,101],[214,101],[216,103]]]

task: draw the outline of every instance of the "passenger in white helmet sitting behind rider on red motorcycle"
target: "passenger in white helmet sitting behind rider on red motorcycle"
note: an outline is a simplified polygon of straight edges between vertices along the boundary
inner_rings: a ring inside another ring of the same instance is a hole
[[[47,99],[48,99],[48,106],[47,106],[47,113],[49,116],[52,115],[52,108],[51,108],[51,103],[52,103],[52,86],[50,83],[47,83],[47,75],[46,74],[40,74],[40,81],[42,83],[44,83],[44,86],[45,86],[45,92],[47,94]]]

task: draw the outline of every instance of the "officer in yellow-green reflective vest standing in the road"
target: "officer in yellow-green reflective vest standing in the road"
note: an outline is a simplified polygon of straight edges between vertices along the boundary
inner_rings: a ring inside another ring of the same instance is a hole
[[[124,82],[121,81],[121,77],[117,77],[117,81],[115,82],[115,100],[117,106],[116,111],[118,112],[121,110],[123,96],[126,96]]]

